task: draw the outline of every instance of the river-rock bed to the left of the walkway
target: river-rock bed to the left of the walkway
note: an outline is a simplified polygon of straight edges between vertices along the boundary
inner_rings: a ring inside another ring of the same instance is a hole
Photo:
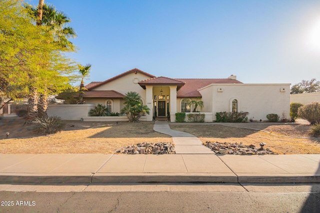
[[[136,145],[122,147],[115,151],[119,154],[175,154],[174,146],[171,143],[138,143]]]

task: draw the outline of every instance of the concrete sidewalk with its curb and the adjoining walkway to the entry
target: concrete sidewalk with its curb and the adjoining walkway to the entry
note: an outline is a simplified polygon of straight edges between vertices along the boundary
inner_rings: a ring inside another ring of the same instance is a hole
[[[167,122],[154,130],[172,136],[177,154],[0,154],[0,184],[320,183],[320,154],[215,155]]]

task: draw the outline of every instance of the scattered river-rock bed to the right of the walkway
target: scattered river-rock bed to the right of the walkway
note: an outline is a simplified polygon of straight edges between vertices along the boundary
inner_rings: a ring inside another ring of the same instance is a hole
[[[261,146],[262,145],[262,146]],[[216,154],[222,155],[277,155],[269,148],[264,149],[264,143],[260,144],[260,148],[254,145],[245,146],[238,143],[219,143],[219,142],[205,142],[205,146],[210,148]]]

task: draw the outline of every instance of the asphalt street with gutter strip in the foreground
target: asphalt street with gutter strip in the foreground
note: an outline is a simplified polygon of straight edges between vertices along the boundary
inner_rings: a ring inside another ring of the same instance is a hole
[[[0,212],[9,213],[312,213],[320,209],[320,185],[0,185],[0,201]]]

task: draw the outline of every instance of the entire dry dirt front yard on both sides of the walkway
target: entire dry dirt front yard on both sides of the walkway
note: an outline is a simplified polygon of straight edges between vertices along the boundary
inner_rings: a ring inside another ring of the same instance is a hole
[[[71,154],[113,153],[116,149],[142,142],[172,142],[168,135],[153,131],[153,122],[66,122],[65,129],[55,135],[41,136],[33,125],[13,117],[0,120],[0,153],[3,154]],[[170,123],[169,123],[170,124]],[[171,129],[188,132],[202,142],[242,142],[259,146],[260,142],[278,154],[320,154],[319,139],[309,137],[309,125],[280,123],[170,124]],[[252,129],[264,130],[264,133]],[[6,132],[9,133],[6,139]],[[27,138],[21,138],[27,137]],[[19,139],[15,139],[19,138]],[[1,140],[6,139],[6,140]]]

